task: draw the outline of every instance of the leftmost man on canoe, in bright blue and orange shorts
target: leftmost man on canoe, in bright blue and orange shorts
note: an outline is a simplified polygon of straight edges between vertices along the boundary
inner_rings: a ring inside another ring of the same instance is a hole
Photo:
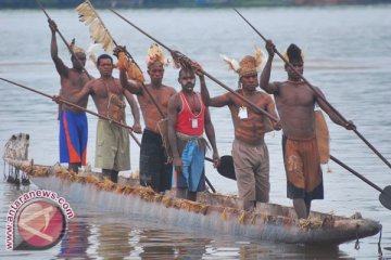
[[[56,24],[48,20],[51,30],[50,53],[54,62],[55,69],[61,78],[60,95],[64,100],[70,100],[78,93],[86,82],[90,79],[84,72],[86,65],[86,53],[77,48],[74,42],[71,44],[73,54],[71,56],[72,68],[68,68],[59,57],[59,50],[55,39]],[[86,108],[88,96],[85,96],[76,105]],[[78,172],[78,168],[86,165],[88,125],[85,112],[61,104],[60,105],[60,162],[67,162],[68,170]]]

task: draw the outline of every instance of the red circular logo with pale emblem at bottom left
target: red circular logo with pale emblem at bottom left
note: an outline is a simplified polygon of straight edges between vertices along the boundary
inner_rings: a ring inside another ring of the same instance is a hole
[[[54,246],[62,238],[65,227],[64,213],[50,202],[31,202],[22,209],[17,219],[21,237],[35,248]]]

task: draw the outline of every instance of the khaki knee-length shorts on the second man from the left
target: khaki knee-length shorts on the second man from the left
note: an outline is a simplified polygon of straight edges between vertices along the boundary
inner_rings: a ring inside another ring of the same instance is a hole
[[[115,171],[130,169],[129,132],[126,128],[98,120],[94,166]]]

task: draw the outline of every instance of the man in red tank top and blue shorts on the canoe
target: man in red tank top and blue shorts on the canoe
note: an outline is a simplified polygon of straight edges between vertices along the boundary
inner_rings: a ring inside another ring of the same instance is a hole
[[[192,66],[202,72],[200,65]],[[199,74],[199,78],[201,86],[205,84],[203,74]],[[168,102],[168,140],[174,156],[174,185],[177,187],[177,197],[195,200],[197,192],[205,191],[204,157],[209,145],[203,138],[204,130],[212,145],[215,167],[219,164],[219,157],[209,108],[203,104],[200,93],[194,91],[194,69],[182,67],[178,82],[181,91]]]

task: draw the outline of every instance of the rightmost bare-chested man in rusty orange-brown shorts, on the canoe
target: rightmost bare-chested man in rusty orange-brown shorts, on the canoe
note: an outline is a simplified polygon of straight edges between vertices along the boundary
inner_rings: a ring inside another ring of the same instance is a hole
[[[288,80],[269,83],[272,62],[275,46],[267,41],[268,60],[261,75],[261,87],[274,94],[277,110],[282,125],[282,151],[287,173],[287,196],[293,199],[298,218],[306,219],[311,210],[312,199],[324,198],[323,174],[315,136],[315,104],[327,113],[330,119],[349,130],[355,129],[351,121],[342,120],[331,108],[318,98],[324,94],[315,88],[318,94],[303,80],[303,53],[295,44],[287,50],[287,60],[292,65],[285,64]]]

